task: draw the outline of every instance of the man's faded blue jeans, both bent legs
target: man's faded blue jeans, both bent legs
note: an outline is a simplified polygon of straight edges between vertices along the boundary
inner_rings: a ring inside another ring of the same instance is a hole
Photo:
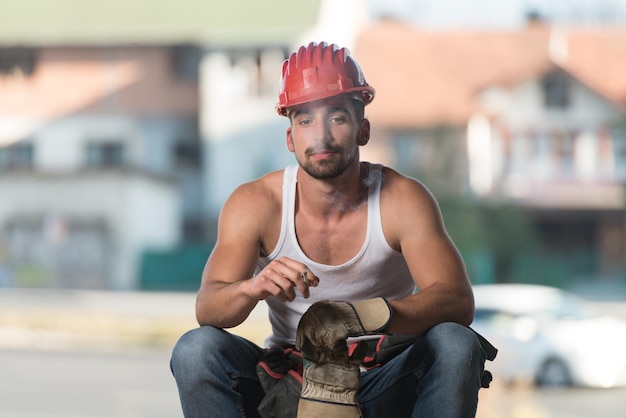
[[[258,417],[263,390],[255,367],[263,352],[213,327],[183,335],[170,365],[185,417]],[[362,373],[363,416],[474,417],[484,363],[470,329],[436,325],[389,363]]]

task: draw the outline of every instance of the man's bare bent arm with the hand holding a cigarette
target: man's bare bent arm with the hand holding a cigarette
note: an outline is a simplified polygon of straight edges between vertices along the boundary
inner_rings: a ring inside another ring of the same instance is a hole
[[[317,285],[317,278],[305,265],[287,258],[272,261],[253,276],[264,238],[276,216],[276,227],[280,228],[280,202],[275,201],[262,180],[240,186],[229,197],[220,214],[218,239],[202,273],[196,299],[200,325],[237,326],[258,301],[270,296],[291,301],[295,287],[308,297],[308,285]],[[308,284],[303,271],[307,271]]]

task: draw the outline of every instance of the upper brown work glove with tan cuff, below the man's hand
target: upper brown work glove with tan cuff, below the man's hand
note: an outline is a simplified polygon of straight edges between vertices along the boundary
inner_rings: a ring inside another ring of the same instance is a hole
[[[381,332],[391,315],[391,306],[384,298],[316,302],[300,318],[296,348],[316,363],[345,362],[346,338]]]

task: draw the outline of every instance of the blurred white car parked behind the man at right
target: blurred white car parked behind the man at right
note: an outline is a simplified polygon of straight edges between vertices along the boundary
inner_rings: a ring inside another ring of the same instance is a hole
[[[498,348],[494,380],[538,386],[626,385],[626,321],[597,316],[561,289],[475,285],[472,328]]]

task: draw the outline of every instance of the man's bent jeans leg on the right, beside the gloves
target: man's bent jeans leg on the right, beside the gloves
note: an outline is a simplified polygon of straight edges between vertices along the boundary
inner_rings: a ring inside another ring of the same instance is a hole
[[[361,375],[363,416],[474,417],[484,364],[472,330],[436,325],[389,363]]]

